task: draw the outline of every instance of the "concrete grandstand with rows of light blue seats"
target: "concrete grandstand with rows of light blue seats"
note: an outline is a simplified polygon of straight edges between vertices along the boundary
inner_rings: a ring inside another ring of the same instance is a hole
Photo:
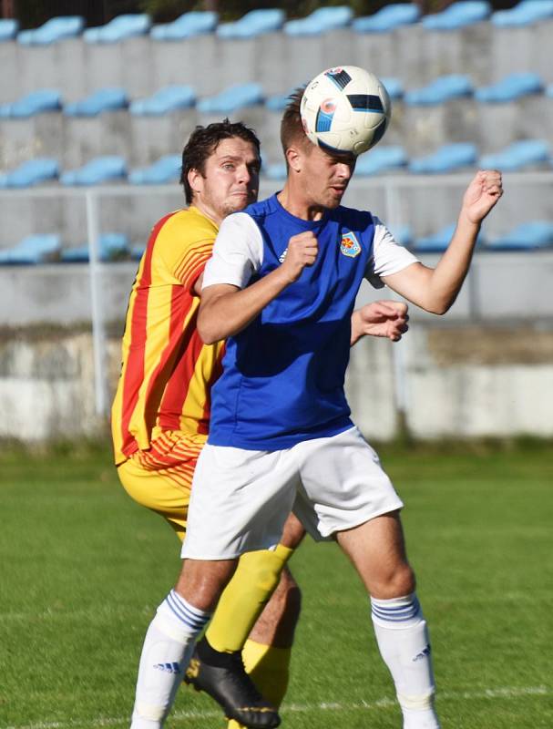
[[[251,124],[269,194],[282,184],[286,96],[339,64],[370,68],[394,99],[390,128],[360,159],[346,203],[369,206],[432,260],[466,180],[478,165],[503,169],[506,195],[452,316],[550,320],[552,33],[550,0],[496,12],[466,0],[435,15],[408,3],[364,17],[345,5],[300,19],[257,10],[234,23],[200,11],[163,25],[120,15],[96,28],[78,16],[31,30],[0,19],[6,323],[89,320],[99,315],[95,296],[103,318],[120,320],[152,223],[183,204],[176,180],[192,128],[222,116]],[[510,276],[493,280],[490,256]],[[49,296],[53,282],[63,296]]]

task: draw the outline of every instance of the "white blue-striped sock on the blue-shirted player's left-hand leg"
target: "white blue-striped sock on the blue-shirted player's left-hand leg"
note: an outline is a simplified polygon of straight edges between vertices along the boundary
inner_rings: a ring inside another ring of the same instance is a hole
[[[130,729],[160,729],[186,671],[197,637],[210,613],[171,590],[150,622],[140,665]]]

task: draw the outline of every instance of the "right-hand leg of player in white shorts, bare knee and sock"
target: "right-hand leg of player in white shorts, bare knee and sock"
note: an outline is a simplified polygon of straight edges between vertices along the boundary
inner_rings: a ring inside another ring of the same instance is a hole
[[[428,631],[398,513],[336,536],[371,596],[376,641],[394,679],[404,729],[439,729]]]

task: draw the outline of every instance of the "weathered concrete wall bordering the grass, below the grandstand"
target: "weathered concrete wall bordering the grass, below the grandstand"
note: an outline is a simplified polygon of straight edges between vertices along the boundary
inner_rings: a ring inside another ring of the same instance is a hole
[[[118,337],[110,338],[110,395],[119,352]],[[357,344],[346,390],[355,422],[374,440],[398,434],[403,392],[405,422],[416,438],[551,437],[552,362],[551,327],[466,330],[421,323],[399,344],[371,338]],[[89,334],[4,331],[0,438],[32,442],[103,433],[106,419],[95,414],[93,383]]]

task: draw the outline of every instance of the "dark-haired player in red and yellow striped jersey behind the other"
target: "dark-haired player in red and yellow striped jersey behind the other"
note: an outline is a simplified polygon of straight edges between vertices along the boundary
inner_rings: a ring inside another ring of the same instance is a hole
[[[257,199],[260,164],[259,141],[242,124],[197,128],[183,152],[181,182],[189,209],[154,226],[128,302],[111,423],[118,475],[128,494],[167,519],[179,539],[208,433],[210,386],[220,375],[224,349],[203,344],[196,330],[201,274],[220,221]],[[292,545],[302,529],[294,521],[290,529]],[[255,622],[242,606],[251,605],[253,615],[269,600],[292,554],[286,539],[274,551],[241,560],[208,629],[218,650],[241,649]],[[251,633],[254,640],[243,649],[247,668],[275,704],[286,689],[299,608],[299,590],[285,571]],[[142,721],[154,725],[135,715],[133,726]]]

